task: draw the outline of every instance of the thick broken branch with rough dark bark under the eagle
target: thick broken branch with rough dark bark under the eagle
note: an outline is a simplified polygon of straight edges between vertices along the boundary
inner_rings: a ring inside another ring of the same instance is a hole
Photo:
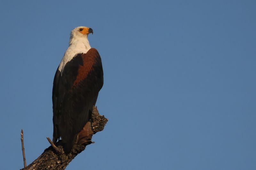
[[[102,131],[107,122],[108,119],[106,119],[104,115],[99,114],[97,107],[93,107],[92,120],[84,126],[84,129],[87,128],[86,133],[85,131],[79,133],[79,142],[77,145],[75,144],[73,146],[73,149],[69,154],[64,153],[60,140],[56,144],[60,152],[56,152],[56,150],[52,146],[50,146],[45,149],[44,152],[36,160],[34,160],[26,168],[22,168],[21,170],[65,169],[68,166],[69,162],[71,162],[77,154],[85,150],[85,147],[87,145],[94,143],[91,141],[92,135],[99,131]],[[88,128],[89,126],[90,128]]]

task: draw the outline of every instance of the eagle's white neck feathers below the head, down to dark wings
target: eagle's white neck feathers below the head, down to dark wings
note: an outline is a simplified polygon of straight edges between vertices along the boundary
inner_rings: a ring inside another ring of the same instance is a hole
[[[62,60],[60,62],[59,71],[62,74],[65,65],[72,60],[79,53],[87,53],[87,51],[91,48],[89,41],[87,39],[87,35],[84,36],[74,36],[71,34],[69,40],[69,47],[65,52]]]

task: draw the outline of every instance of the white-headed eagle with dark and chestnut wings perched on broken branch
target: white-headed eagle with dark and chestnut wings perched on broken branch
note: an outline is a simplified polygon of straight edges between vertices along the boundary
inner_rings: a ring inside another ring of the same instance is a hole
[[[103,86],[101,58],[89,44],[90,33],[92,28],[85,26],[71,31],[69,47],[53,80],[53,143],[61,138],[65,153],[71,152],[78,133],[90,120]]]

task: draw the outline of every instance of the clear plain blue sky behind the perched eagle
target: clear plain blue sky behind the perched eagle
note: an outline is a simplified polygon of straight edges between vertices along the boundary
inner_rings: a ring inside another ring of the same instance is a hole
[[[77,26],[94,30],[109,122],[67,167],[256,169],[256,2],[1,1],[1,169],[52,138],[52,81]]]

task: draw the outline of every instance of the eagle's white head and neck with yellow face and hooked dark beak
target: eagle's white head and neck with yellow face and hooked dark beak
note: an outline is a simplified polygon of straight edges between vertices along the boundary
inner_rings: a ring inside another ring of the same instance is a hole
[[[88,41],[89,33],[93,33],[93,30],[92,28],[88,28],[86,26],[78,26],[71,31],[69,47],[65,52],[59,66],[61,73],[67,62],[69,62],[79,53],[87,53],[87,51],[91,48]]]

